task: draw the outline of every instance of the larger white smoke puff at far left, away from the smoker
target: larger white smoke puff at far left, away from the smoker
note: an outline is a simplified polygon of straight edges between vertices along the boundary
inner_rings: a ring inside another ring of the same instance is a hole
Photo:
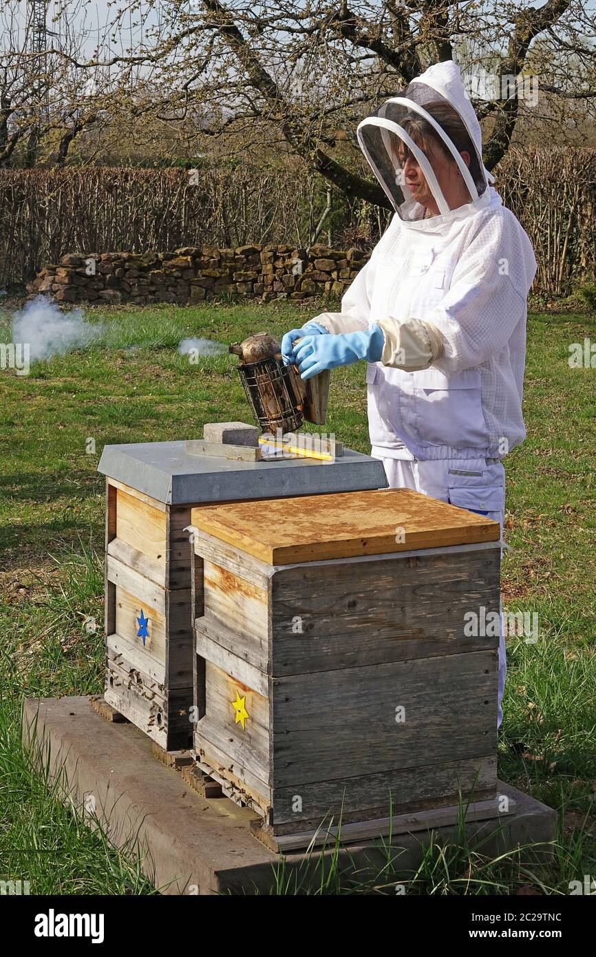
[[[35,362],[89,345],[99,337],[101,327],[85,323],[80,309],[60,312],[55,301],[36,296],[13,313],[11,330],[13,343],[29,343]]]

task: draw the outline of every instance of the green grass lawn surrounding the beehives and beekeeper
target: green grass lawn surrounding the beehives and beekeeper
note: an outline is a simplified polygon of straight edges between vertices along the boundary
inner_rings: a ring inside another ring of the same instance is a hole
[[[102,446],[250,420],[235,358],[191,365],[177,353],[180,340],[281,333],[310,314],[246,304],[86,315],[98,324],[95,345],[35,363],[29,376],[0,369],[0,879],[28,879],[32,894],[149,894],[134,861],[35,774],[20,748],[21,702],[102,690],[101,627],[88,632],[89,619],[102,622]],[[10,318],[5,300],[0,341],[10,341]],[[596,370],[567,363],[568,346],[585,336],[596,340],[593,316],[530,318],[528,437],[506,462],[504,604],[537,612],[540,637],[508,639],[499,776],[560,810],[555,854],[528,868],[515,855],[490,861],[463,845],[432,847],[410,893],[565,894],[569,880],[596,878]],[[367,452],[364,364],[337,370],[332,382],[325,431]],[[394,880],[389,867],[373,883],[393,894]],[[335,875],[326,892],[372,885]],[[281,872],[279,890],[296,893]]]

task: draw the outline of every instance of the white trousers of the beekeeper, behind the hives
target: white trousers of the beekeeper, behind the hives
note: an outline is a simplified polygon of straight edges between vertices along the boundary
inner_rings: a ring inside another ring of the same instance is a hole
[[[503,531],[505,512],[505,470],[501,462],[485,458],[436,460],[382,458],[389,488],[411,488],[430,495],[433,499],[449,501],[453,505],[494,519]],[[475,507],[486,505],[487,508]],[[497,727],[503,713],[501,700],[507,676],[505,634],[502,602],[500,605],[500,634],[498,639],[498,705]]]

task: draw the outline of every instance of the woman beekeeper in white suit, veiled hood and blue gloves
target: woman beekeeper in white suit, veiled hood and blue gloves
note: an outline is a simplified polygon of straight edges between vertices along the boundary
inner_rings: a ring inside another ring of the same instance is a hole
[[[303,379],[366,360],[371,454],[389,486],[503,523],[502,458],[521,415],[532,246],[482,164],[480,125],[453,60],[358,127],[395,210],[342,299],[286,333]],[[302,341],[293,345],[298,336]],[[506,662],[501,634],[498,717]]]

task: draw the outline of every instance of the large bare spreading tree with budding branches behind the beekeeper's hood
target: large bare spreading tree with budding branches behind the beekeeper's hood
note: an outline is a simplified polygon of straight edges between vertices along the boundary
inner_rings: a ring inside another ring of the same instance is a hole
[[[131,10],[142,5],[121,7],[116,20]],[[524,136],[560,136],[563,124],[568,142],[593,124],[596,20],[587,0],[540,8],[513,0],[200,0],[198,10],[173,0],[161,11],[143,54],[157,91],[154,117],[172,130],[189,122],[220,153],[294,154],[346,196],[376,205],[386,206],[386,196],[362,174],[356,126],[432,62],[454,56],[462,64],[488,132],[489,168],[518,127]]]

